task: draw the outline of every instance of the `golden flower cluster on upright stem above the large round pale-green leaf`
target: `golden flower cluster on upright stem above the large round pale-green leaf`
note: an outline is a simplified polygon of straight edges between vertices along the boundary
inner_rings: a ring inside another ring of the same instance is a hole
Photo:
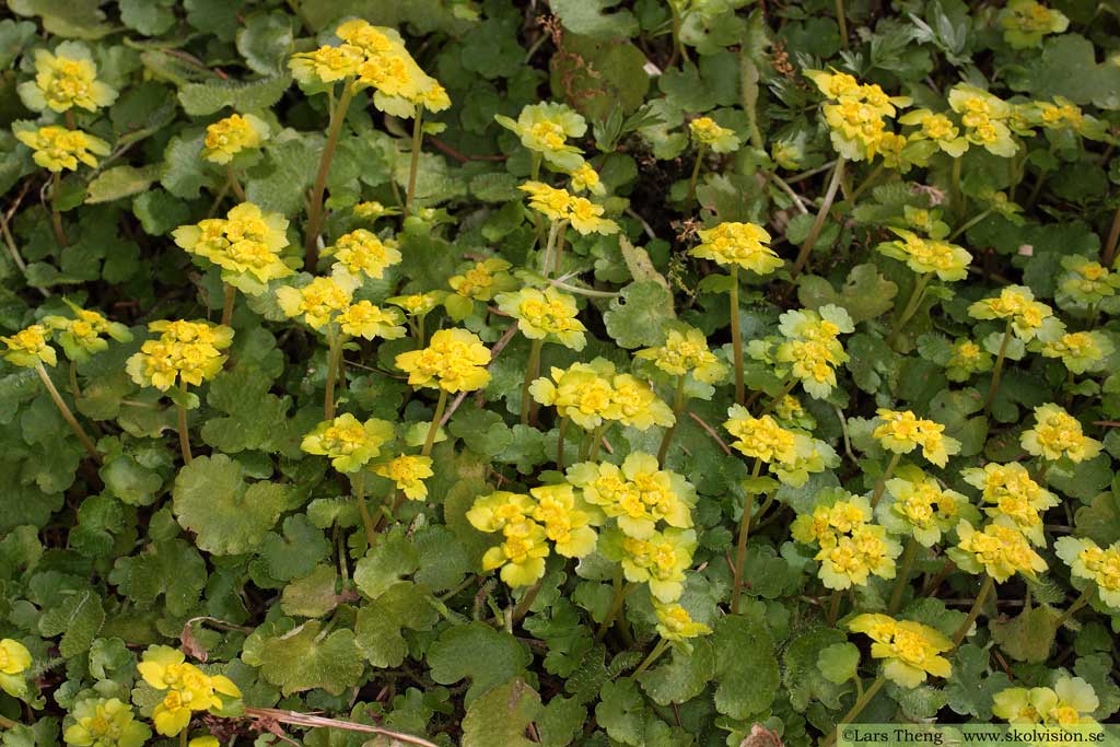
[[[225,354],[233,343],[233,329],[209,321],[152,321],[148,329],[159,333],[132,355],[125,368],[141,386],[155,386],[166,392],[175,385],[198,386],[222,370]]]

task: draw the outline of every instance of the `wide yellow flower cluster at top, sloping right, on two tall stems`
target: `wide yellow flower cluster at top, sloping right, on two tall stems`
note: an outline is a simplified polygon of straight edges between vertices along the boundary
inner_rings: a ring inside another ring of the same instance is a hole
[[[377,109],[394,116],[413,116],[420,108],[440,112],[451,105],[447,91],[420,69],[394,29],[349,20],[335,35],[342,45],[292,55],[289,67],[297,81],[308,85],[348,80],[355,90],[372,87]]]

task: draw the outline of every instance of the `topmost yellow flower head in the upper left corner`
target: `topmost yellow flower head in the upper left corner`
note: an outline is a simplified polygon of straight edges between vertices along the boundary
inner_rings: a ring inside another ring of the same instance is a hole
[[[97,81],[97,66],[85,46],[64,41],[50,54],[35,52],[35,80],[21,83],[19,94],[28,109],[66,112],[77,106],[96,111],[116,101],[116,91]]]

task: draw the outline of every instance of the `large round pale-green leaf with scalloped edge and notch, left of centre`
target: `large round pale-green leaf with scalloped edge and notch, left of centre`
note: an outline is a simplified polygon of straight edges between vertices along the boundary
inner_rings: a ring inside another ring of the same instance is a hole
[[[260,544],[284,508],[288,487],[246,484],[240,463],[215,454],[180,469],[172,495],[175,517],[197,535],[198,548],[233,555]]]

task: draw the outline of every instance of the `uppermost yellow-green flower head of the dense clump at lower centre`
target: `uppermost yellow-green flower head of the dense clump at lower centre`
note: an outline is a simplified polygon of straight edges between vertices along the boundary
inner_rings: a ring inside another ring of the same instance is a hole
[[[568,482],[582,491],[584,501],[615,519],[627,536],[647,540],[660,522],[676,529],[692,526],[696,488],[676,473],[661,469],[657,459],[632,451],[622,467],[582,461],[568,468]]]

